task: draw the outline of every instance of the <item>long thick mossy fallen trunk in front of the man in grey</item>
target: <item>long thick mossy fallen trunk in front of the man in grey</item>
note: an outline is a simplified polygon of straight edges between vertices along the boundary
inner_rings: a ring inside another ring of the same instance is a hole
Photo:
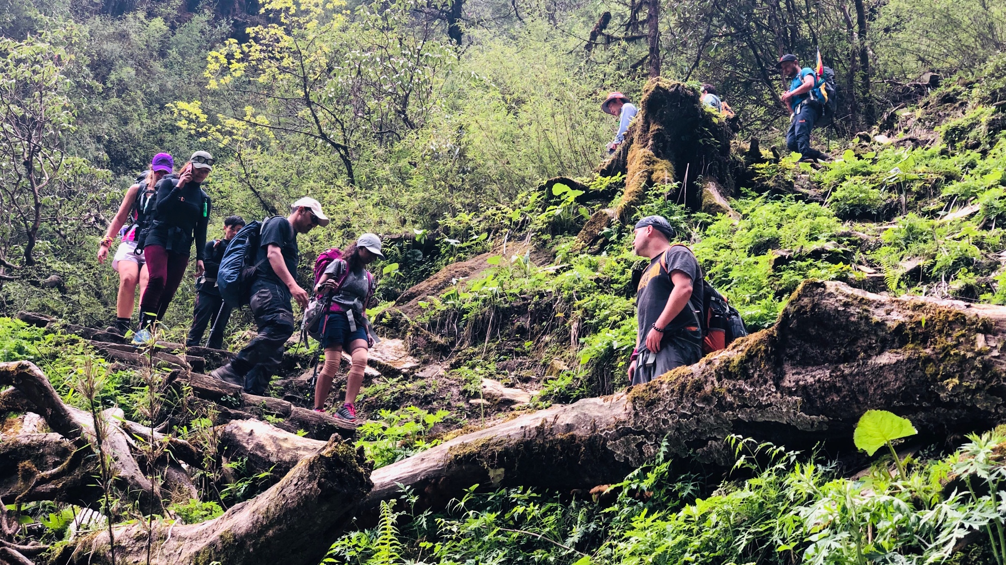
[[[443,506],[474,484],[564,492],[621,481],[666,438],[674,457],[728,467],[724,438],[821,445],[862,463],[867,409],[907,417],[919,440],[1006,420],[1006,308],[895,299],[806,281],[777,324],[690,367],[603,398],[519,416],[374,472],[365,505],[413,489]]]

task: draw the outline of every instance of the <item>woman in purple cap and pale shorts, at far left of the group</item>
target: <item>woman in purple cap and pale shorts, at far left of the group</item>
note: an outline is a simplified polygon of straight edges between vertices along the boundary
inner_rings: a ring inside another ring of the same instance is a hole
[[[121,242],[112,258],[112,268],[119,273],[119,297],[116,300],[116,325],[109,332],[125,336],[133,320],[136,304],[136,286],[140,285],[142,295],[147,287],[147,266],[142,255],[136,250],[136,236],[147,223],[147,216],[153,209],[155,186],[165,175],[173,175],[175,162],[167,153],[158,153],[150,162],[150,170],[144,172],[137,182],[126,190],[116,217],[112,218],[109,229],[98,246],[98,262],[104,263],[109,256],[112,243],[119,235]],[[127,225],[129,221],[129,225]]]

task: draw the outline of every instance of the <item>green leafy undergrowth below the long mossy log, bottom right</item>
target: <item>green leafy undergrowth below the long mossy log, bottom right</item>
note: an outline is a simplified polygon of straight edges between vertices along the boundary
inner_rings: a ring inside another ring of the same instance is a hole
[[[999,432],[972,435],[946,456],[909,458],[904,479],[889,456],[848,479],[818,457],[729,441],[737,459],[722,482],[661,449],[599,502],[475,486],[433,513],[406,491],[324,562],[992,565],[1002,549]]]

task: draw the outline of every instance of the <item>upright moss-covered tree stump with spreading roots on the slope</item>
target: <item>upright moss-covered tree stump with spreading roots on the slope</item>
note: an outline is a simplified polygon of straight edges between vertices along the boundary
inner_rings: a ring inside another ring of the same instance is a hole
[[[698,210],[700,177],[716,179],[723,195],[732,196],[734,172],[743,168],[742,160],[730,153],[732,138],[730,128],[706,109],[695,88],[666,78],[648,80],[625,142],[598,168],[602,176],[626,176],[616,217],[628,221],[649,188],[671,183],[680,184],[668,198]]]

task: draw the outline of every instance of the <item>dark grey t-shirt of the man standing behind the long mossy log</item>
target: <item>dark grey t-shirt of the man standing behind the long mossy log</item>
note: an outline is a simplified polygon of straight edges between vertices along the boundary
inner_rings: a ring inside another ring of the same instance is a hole
[[[666,258],[666,268],[661,264],[662,258]],[[666,252],[657,255],[650,261],[650,265],[643,271],[643,277],[639,280],[636,293],[638,311],[636,320],[640,343],[646,339],[650,327],[660,317],[660,313],[664,311],[667,301],[671,298],[674,282],[671,281],[669,272],[672,270],[680,270],[691,277],[692,296],[685,308],[667,325],[664,330],[664,340],[672,335],[680,335],[678,332],[682,328],[698,326],[698,318],[693,312],[693,307],[702,304],[702,268],[688,247],[673,245]]]

